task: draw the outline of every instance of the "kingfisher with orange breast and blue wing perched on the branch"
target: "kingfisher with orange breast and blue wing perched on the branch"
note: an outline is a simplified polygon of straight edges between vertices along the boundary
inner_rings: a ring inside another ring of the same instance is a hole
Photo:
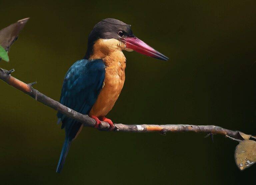
[[[160,60],[168,60],[142,40],[133,35],[131,25],[107,18],[97,23],[88,37],[87,52],[76,61],[64,78],[60,103],[114,129],[113,122],[105,116],[113,108],[125,81],[126,58],[123,51],[136,51]],[[65,128],[65,141],[60,154],[57,173],[60,173],[71,142],[83,124],[58,112],[58,123]]]

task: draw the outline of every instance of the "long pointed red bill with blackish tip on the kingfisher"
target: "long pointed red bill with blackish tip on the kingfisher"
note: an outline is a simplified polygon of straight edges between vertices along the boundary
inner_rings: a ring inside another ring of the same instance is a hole
[[[164,56],[163,54],[156,51],[154,48],[147,45],[142,40],[138,39],[137,37],[127,37],[124,38],[123,41],[126,44],[126,48],[132,49],[138,53],[143,55],[147,55],[153,58],[157,58],[160,60],[168,60],[169,58]]]

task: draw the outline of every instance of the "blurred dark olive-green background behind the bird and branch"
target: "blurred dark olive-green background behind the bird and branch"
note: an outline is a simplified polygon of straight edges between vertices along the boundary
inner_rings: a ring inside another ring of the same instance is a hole
[[[66,71],[104,18],[168,56],[125,52],[126,81],[108,117],[126,124],[218,125],[256,135],[256,2],[1,1],[4,28],[30,17],[9,52],[13,76],[59,100]],[[84,128],[55,173],[64,130],[56,111],[0,81],[2,184],[247,184],[236,142],[206,134],[114,133]]]

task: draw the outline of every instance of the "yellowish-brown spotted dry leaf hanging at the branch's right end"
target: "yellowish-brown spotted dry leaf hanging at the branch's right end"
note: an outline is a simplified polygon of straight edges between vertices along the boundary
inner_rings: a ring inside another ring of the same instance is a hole
[[[250,167],[256,162],[256,142],[245,139],[241,141],[235,150],[236,164],[240,170]]]

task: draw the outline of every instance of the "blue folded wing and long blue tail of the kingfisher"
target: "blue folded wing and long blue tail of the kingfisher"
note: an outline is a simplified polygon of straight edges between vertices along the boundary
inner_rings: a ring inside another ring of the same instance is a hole
[[[88,114],[94,105],[105,79],[103,60],[78,60],[68,70],[60,97],[60,103],[81,113]],[[57,172],[60,172],[67,156],[71,141],[82,124],[58,112],[57,117],[65,127],[66,138],[62,148]]]

